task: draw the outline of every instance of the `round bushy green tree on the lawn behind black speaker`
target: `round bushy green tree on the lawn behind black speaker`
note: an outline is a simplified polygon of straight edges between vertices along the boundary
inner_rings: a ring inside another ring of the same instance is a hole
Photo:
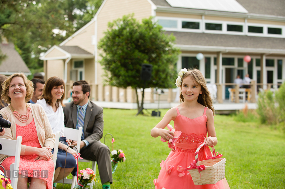
[[[103,53],[101,64],[105,70],[105,83],[111,86],[136,89],[138,113],[143,109],[144,90],[149,87],[173,88],[179,49],[175,37],[166,35],[162,26],[152,17],[140,23],[133,15],[108,23],[108,30],[99,42]],[[152,65],[150,81],[140,78],[142,64]],[[139,103],[137,89],[142,88]]]

